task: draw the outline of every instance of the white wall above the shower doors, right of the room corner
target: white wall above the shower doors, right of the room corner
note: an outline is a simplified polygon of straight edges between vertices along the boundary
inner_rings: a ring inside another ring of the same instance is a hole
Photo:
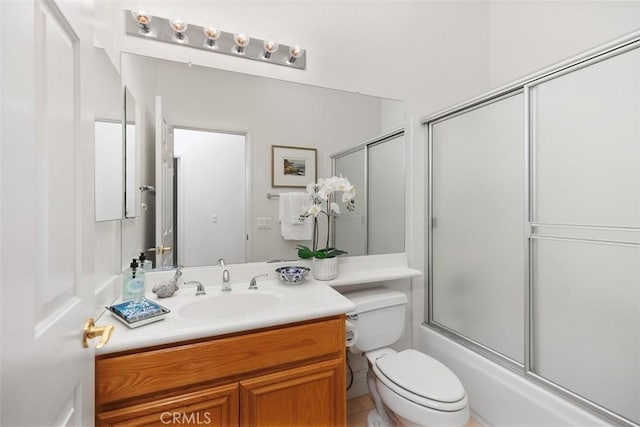
[[[501,86],[640,27],[640,2],[492,1],[489,83]]]

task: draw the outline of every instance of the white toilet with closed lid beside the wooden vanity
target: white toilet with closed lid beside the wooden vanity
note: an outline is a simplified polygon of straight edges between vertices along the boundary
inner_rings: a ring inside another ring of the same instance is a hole
[[[354,353],[369,361],[367,383],[376,403],[367,426],[460,427],[469,420],[467,394],[449,368],[416,350],[387,347],[402,337],[407,296],[387,288],[344,294],[356,309],[348,315]]]

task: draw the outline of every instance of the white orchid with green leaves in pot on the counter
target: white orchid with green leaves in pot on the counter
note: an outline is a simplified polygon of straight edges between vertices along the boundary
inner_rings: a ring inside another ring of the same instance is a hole
[[[354,197],[356,189],[347,178],[342,175],[331,178],[321,178],[317,182],[307,185],[307,193],[311,196],[312,205],[300,214],[300,221],[308,217],[313,217],[313,240],[312,247],[298,245],[298,256],[307,258],[333,258],[346,254],[345,251],[330,246],[331,238],[331,218],[340,213],[340,205],[335,202],[336,193],[342,193],[342,202],[346,203],[348,211],[353,211],[356,207]],[[318,216],[327,217],[327,240],[324,249],[318,249]]]

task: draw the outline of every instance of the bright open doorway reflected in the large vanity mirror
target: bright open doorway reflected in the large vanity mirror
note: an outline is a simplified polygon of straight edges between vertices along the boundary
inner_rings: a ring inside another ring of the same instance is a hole
[[[246,261],[246,136],[174,128],[178,264]]]

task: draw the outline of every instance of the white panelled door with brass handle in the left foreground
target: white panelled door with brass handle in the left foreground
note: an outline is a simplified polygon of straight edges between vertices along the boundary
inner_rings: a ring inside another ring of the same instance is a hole
[[[0,2],[3,426],[94,421],[91,4]]]

